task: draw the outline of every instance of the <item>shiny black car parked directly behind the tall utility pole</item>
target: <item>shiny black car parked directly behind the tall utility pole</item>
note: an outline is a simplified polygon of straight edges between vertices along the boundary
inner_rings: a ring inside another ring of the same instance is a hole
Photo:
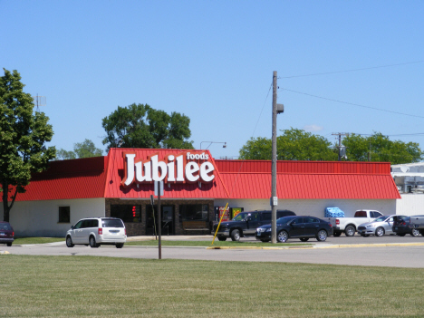
[[[302,242],[306,242],[311,237],[325,241],[327,236],[332,236],[332,225],[318,217],[281,217],[276,222],[276,235],[280,243],[289,238],[300,238]],[[270,241],[271,225],[256,228],[255,237],[262,242]]]

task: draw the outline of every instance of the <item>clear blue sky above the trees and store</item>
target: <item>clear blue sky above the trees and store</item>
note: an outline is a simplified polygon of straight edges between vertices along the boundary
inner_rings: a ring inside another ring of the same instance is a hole
[[[0,66],[46,96],[57,149],[104,150],[101,120],[136,102],[184,113],[195,148],[226,142],[208,149],[236,158],[271,138],[274,71],[278,130],[423,148],[423,1],[0,0],[0,12]]]

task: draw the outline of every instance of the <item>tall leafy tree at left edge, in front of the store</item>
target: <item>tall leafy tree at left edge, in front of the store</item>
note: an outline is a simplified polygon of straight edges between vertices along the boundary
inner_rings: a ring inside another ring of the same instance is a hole
[[[0,183],[4,220],[18,193],[24,193],[31,173],[46,169],[56,154],[45,143],[52,140],[52,125],[43,112],[33,111],[34,99],[24,92],[19,72],[0,77]]]

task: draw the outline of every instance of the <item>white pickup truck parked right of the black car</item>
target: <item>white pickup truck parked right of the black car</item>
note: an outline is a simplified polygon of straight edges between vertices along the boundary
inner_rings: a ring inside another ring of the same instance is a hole
[[[360,224],[371,222],[374,218],[381,216],[382,214],[379,211],[358,210],[354,217],[324,217],[323,219],[332,224],[332,236],[341,236],[342,232],[346,236],[354,236]]]

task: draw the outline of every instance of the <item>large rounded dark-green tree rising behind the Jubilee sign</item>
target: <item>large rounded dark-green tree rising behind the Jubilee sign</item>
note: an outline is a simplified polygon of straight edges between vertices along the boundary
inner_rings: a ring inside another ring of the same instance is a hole
[[[103,118],[106,138],[102,141],[110,148],[176,148],[194,149],[188,141],[190,120],[184,114],[158,111],[148,104],[118,106],[118,110]]]

